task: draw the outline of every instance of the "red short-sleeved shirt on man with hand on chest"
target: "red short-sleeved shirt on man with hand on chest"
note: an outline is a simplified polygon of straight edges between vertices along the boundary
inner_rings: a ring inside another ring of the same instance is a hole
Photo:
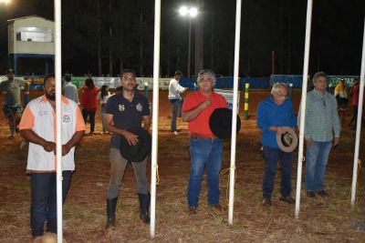
[[[203,93],[198,90],[186,96],[183,102],[183,111],[189,111],[196,106],[199,106],[207,99]],[[213,136],[213,132],[209,127],[209,118],[216,108],[224,108],[227,106],[224,96],[216,94],[212,91],[210,96],[211,106],[206,107],[198,116],[196,116],[188,124],[189,132],[202,136]]]

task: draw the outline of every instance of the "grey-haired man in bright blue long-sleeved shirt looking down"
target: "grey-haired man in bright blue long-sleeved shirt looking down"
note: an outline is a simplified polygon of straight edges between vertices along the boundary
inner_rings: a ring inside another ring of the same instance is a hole
[[[280,160],[281,185],[280,200],[294,204],[295,200],[290,197],[291,173],[294,152],[280,150],[276,142],[276,134],[283,134],[283,127],[297,125],[293,104],[287,99],[287,85],[276,83],[271,89],[271,96],[261,101],[257,107],[257,127],[262,131],[261,144],[265,159],[265,174],[263,181],[263,206],[271,206],[271,194],[274,190],[276,162]]]

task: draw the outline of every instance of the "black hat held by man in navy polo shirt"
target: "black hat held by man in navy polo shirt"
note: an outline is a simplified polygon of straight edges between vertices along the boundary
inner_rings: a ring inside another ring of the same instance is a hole
[[[120,139],[120,155],[130,162],[141,162],[151,153],[151,135],[142,127],[132,127],[129,132],[138,136],[138,143],[130,145],[122,136]]]

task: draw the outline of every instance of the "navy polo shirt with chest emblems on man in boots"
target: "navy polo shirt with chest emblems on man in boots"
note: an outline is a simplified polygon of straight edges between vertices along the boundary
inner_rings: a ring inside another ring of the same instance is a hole
[[[141,127],[142,117],[150,115],[150,104],[145,96],[135,94],[131,102],[122,92],[110,96],[105,107],[105,113],[113,115],[113,125],[121,129]],[[113,134],[111,147],[120,147],[120,135]]]

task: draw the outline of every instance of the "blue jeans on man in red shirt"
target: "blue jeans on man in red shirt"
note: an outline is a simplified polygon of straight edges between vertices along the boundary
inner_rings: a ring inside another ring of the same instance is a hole
[[[204,167],[207,170],[208,204],[219,204],[219,172],[222,167],[222,139],[190,138],[192,166],[188,186],[188,205],[197,207]]]

